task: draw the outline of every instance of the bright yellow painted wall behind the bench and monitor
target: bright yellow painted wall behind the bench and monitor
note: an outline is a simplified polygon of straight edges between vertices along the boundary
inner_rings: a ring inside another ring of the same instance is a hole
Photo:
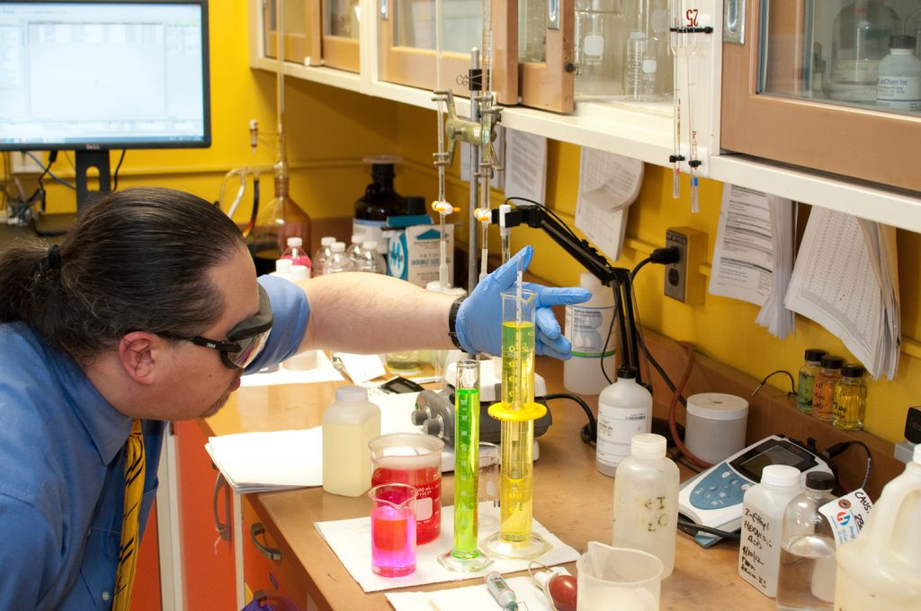
[[[274,75],[253,71],[247,56],[246,0],[221,0],[210,4],[212,66],[212,129],[214,144],[206,150],[129,151],[122,166],[120,186],[155,184],[190,190],[216,200],[227,170],[253,164],[271,165],[274,153]],[[398,169],[396,188],[403,194],[422,194],[431,201],[437,195],[437,175],[431,154],[437,146],[436,114],[429,110],[397,105],[378,98],[340,91],[328,86],[288,79],[288,158],[292,166],[294,200],[315,218],[350,215],[352,204],[364,192],[368,169],[360,159],[375,153],[395,153],[405,162]],[[248,122],[257,119],[262,139],[256,156],[251,154]],[[575,228],[577,146],[551,142],[548,151],[547,204]],[[112,164],[117,156],[112,156]],[[448,200],[466,209],[468,187],[457,179],[458,163],[449,172]],[[73,172],[65,159],[53,168],[63,178]],[[705,231],[710,240],[708,261],[717,232],[722,185],[703,180],[701,212],[690,213],[687,185],[684,198],[671,199],[670,174],[661,167],[646,167],[639,199],[630,210],[628,246],[640,250],[664,244],[665,228],[688,225]],[[263,183],[271,196],[271,181]],[[494,204],[502,194],[494,193]],[[49,205],[55,211],[72,210],[72,192],[49,187]],[[461,219],[465,213],[457,215]],[[466,229],[458,227],[459,241]],[[340,236],[346,237],[346,236]],[[908,406],[921,404],[921,313],[917,261],[921,240],[917,234],[899,232],[900,286],[904,337],[910,339],[902,354],[894,382],[871,382],[867,428],[892,442],[902,439]],[[491,244],[497,245],[495,233]],[[574,284],[581,271],[577,263],[540,232],[519,229],[514,247],[533,244],[536,254],[531,270],[555,284]],[[633,267],[645,254],[624,248],[618,265]],[[776,370],[795,374],[803,351],[821,347],[846,354],[843,344],[827,331],[802,317],[787,340],[777,340],[754,323],[757,308],[722,297],[706,296],[704,305],[682,305],[662,296],[662,270],[647,266],[635,282],[643,323],[675,340],[689,341],[699,352],[740,369],[755,378]],[[775,386],[784,380],[773,378]]]

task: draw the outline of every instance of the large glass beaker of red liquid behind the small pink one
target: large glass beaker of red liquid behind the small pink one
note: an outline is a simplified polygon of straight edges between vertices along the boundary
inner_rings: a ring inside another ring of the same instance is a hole
[[[416,489],[416,543],[441,532],[441,451],[445,443],[421,432],[391,432],[370,442],[371,486],[407,484]]]

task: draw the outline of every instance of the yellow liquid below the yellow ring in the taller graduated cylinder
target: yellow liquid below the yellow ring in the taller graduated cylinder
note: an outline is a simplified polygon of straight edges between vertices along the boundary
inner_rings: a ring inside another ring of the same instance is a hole
[[[533,516],[534,422],[503,421],[499,532],[507,541],[528,541]]]

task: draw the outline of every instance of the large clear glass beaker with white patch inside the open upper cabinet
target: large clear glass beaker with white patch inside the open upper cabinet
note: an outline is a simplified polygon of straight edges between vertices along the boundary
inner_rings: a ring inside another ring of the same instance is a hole
[[[624,93],[624,0],[576,0],[576,99]]]

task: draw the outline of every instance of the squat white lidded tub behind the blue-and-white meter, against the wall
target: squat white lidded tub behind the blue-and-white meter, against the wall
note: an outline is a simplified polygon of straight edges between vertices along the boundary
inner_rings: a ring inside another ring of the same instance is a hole
[[[725,393],[688,397],[684,445],[691,454],[716,465],[745,447],[748,401]]]

